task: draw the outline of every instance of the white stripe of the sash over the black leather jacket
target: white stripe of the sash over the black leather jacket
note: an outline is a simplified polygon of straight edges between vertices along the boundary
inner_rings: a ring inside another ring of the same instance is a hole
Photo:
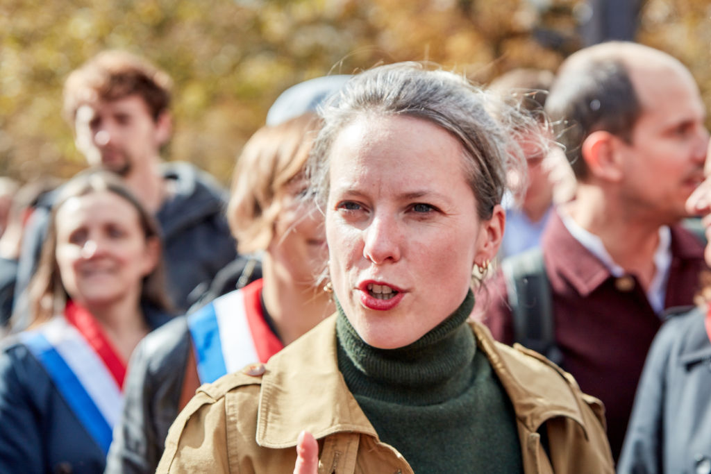
[[[236,372],[245,365],[259,362],[242,291],[231,291],[220,296],[213,301],[213,305],[227,372]]]

